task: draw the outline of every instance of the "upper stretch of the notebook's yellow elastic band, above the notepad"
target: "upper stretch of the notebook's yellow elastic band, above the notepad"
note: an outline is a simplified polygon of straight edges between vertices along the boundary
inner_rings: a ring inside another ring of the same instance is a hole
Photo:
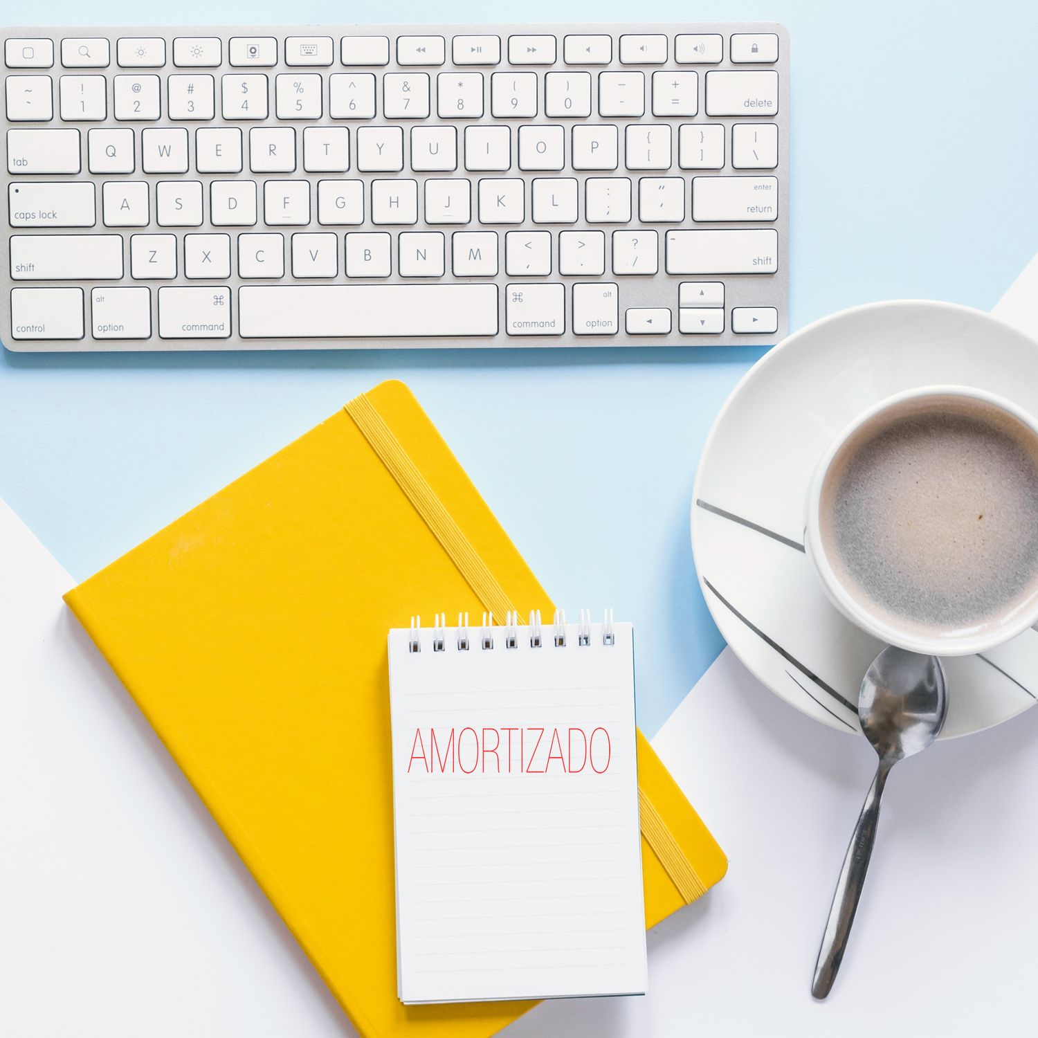
[[[506,613],[515,611],[516,607],[375,405],[362,393],[346,405],[346,412],[357,424],[436,540],[443,545],[443,550],[475,592],[476,598],[497,616],[498,623],[503,623]]]

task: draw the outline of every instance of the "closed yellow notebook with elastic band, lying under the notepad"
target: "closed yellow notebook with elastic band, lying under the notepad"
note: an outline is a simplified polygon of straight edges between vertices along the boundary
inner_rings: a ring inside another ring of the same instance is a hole
[[[475,1038],[532,1005],[397,998],[386,632],[553,608],[406,386],[358,397],[65,599],[361,1034]],[[640,733],[638,784],[652,926],[726,859]]]

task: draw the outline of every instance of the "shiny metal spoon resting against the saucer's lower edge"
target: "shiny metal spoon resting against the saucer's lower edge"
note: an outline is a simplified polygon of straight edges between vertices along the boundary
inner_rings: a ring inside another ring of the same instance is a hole
[[[945,672],[936,656],[921,656],[890,646],[866,672],[857,701],[862,731],[879,755],[879,767],[850,838],[847,856],[832,895],[829,921],[818,950],[811,993],[824,999],[832,988],[847,948],[847,937],[872,856],[879,820],[879,799],[891,768],[926,749],[937,737],[948,712]]]

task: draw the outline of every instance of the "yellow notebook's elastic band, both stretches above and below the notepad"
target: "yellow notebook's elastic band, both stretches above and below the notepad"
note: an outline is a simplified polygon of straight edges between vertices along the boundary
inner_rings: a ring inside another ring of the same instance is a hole
[[[411,460],[375,405],[365,394],[361,394],[346,405],[346,412],[357,424],[357,428],[372,445],[372,449],[379,456],[389,474],[426,521],[480,601],[487,609],[497,613],[498,618],[515,611],[515,606],[504,593],[504,589],[462,532],[446,506],[436,496],[436,491],[418,470],[418,466]],[[705,894],[706,887],[685,857],[674,834],[666,827],[662,816],[641,789],[638,789],[638,813],[641,835],[659,858],[685,903],[694,901],[700,895]]]

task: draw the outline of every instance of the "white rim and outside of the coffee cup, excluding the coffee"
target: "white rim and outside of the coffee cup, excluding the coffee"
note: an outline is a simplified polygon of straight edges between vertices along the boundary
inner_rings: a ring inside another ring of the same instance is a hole
[[[933,385],[920,386],[887,397],[850,421],[822,456],[808,490],[804,545],[830,601],[848,620],[863,630],[881,641],[911,652],[964,656],[984,652],[1008,641],[1038,622],[1038,593],[1021,597],[1020,601],[1014,603],[996,623],[986,625],[981,631],[963,632],[949,629],[932,636],[923,635],[913,626],[907,623],[901,625],[889,611],[876,607],[863,596],[861,589],[841,574],[840,568],[834,565],[832,545],[826,542],[822,532],[823,491],[832,471],[834,461],[840,456],[844,445],[864,427],[880,419],[885,412],[897,409],[901,414],[910,414],[913,405],[918,405],[922,413],[927,405],[933,406],[934,398],[949,397],[984,404],[1015,418],[1034,437],[1038,448],[1038,420],[1005,398],[986,390],[967,386]]]

